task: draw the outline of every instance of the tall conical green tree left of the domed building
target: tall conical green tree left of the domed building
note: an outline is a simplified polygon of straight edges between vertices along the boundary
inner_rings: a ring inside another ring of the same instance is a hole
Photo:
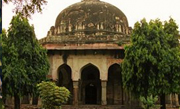
[[[2,46],[3,97],[14,96],[14,109],[20,109],[20,97],[36,94],[36,84],[46,79],[49,63],[26,18],[14,16],[7,33]]]

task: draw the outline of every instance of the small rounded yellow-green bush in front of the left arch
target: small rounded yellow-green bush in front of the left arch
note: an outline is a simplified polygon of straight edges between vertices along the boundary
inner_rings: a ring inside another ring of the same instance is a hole
[[[70,97],[70,91],[65,87],[58,87],[53,82],[42,82],[37,85],[43,107],[45,109],[56,109],[66,103]]]

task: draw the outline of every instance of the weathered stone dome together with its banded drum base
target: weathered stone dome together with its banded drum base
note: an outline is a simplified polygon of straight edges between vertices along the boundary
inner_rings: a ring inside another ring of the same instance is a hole
[[[117,43],[129,34],[120,9],[100,0],[82,0],[60,12],[45,39],[51,43]]]

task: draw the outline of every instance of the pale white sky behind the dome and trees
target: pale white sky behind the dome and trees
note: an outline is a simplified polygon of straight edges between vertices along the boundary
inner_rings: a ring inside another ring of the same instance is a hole
[[[81,0],[48,0],[42,14],[36,13],[29,19],[30,24],[35,27],[36,37],[46,37],[51,26],[55,25],[58,14],[66,7],[80,2]],[[159,18],[161,21],[172,17],[179,26],[180,31],[180,0],[101,0],[118,7],[127,17],[129,26],[133,27],[137,21],[146,18]],[[3,4],[2,27],[6,30],[14,15],[12,4]]]

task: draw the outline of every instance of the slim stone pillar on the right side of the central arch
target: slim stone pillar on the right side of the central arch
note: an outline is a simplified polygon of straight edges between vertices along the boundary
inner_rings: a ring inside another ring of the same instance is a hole
[[[107,81],[101,81],[102,86],[102,93],[101,93],[101,105],[106,105],[106,87],[107,87]]]

